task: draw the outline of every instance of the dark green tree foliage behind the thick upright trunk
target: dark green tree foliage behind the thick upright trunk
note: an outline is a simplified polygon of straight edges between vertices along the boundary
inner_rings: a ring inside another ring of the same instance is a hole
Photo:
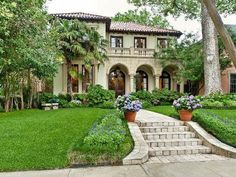
[[[236,45],[236,33],[230,31],[232,39]],[[219,38],[220,69],[223,71],[230,65],[230,59],[225,53],[224,45]],[[170,62],[181,63],[182,69],[177,73],[177,78],[184,78],[189,81],[189,87],[194,95],[197,95],[204,85],[204,63],[202,40],[195,35],[188,34],[181,42],[172,41],[172,45],[164,48],[155,54],[155,57],[161,59],[163,67]]]

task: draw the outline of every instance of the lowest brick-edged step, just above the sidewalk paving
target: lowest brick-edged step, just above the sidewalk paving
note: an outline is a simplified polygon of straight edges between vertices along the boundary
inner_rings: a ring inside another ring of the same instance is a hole
[[[176,146],[176,147],[150,147],[148,154],[154,156],[210,154],[211,149],[206,146]]]

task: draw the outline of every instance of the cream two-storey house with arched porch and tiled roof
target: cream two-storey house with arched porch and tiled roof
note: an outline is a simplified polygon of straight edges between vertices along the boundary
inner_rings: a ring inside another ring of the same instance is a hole
[[[182,34],[172,29],[144,26],[136,23],[112,22],[109,17],[87,13],[54,14],[65,19],[78,19],[96,28],[106,40],[109,60],[105,64],[95,62],[87,71],[82,60],[74,60],[73,68],[82,74],[82,79],[73,80],[73,92],[84,93],[91,84],[100,84],[114,90],[116,95],[138,90],[151,91],[167,88],[184,91],[184,82],[176,81],[178,63],[162,67],[154,58],[154,52],[166,47],[167,38],[178,38]],[[54,78],[54,94],[66,93],[66,63],[62,63]]]

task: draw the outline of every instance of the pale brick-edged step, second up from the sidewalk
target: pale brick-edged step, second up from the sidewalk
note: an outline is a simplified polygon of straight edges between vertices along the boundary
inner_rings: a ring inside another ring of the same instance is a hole
[[[165,139],[165,140],[146,140],[150,147],[173,147],[173,146],[198,146],[202,145],[202,140],[191,139]]]

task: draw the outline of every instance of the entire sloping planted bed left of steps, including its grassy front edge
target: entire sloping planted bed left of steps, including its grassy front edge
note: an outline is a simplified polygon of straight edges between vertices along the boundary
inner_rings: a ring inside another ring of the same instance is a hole
[[[97,121],[83,142],[75,144],[70,155],[71,164],[122,164],[122,159],[133,149],[133,140],[123,119],[114,111]]]

